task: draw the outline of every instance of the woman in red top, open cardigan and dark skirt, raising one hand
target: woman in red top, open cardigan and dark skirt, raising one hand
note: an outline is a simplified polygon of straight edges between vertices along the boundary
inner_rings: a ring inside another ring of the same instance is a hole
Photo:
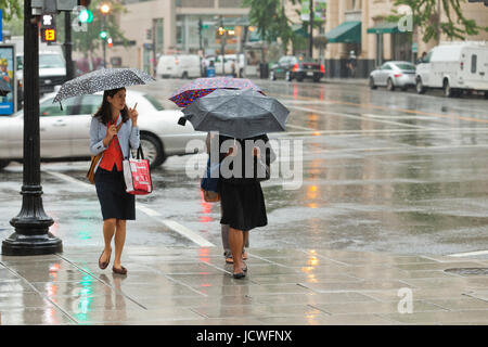
[[[103,102],[93,115],[90,126],[90,151],[93,155],[103,152],[95,166],[97,195],[103,216],[104,250],[99,258],[99,267],[105,269],[111,260],[112,239],[115,235],[114,273],[127,274],[120,265],[126,241],[126,220],[136,219],[134,196],[126,192],[123,160],[131,149],[138,149],[140,133],[137,104],[126,105],[126,89],[105,90]]]

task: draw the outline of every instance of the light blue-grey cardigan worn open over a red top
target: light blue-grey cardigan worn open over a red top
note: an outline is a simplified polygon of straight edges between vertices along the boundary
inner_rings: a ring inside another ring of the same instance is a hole
[[[120,124],[121,117],[118,117],[117,126]],[[91,125],[90,125],[90,152],[93,155],[97,155],[106,149],[107,146],[103,145],[103,139],[105,139],[106,136],[106,126],[101,123],[98,118],[92,117]],[[120,127],[120,129],[117,132],[118,143],[120,144],[120,149],[123,151],[123,157],[124,159],[129,158],[129,147],[130,149],[139,149],[140,144],[140,133],[139,133],[139,127],[132,127],[132,119],[127,119],[127,121]],[[102,157],[100,160],[102,160]],[[97,169],[99,167],[99,163],[97,163],[97,166],[94,168],[94,172],[97,172]]]

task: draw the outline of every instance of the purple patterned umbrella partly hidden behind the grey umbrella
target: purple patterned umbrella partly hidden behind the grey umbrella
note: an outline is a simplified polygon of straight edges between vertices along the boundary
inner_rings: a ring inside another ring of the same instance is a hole
[[[246,78],[209,77],[197,78],[181,87],[169,100],[180,107],[187,107],[196,99],[208,95],[217,89],[253,89],[262,93],[262,90]]]

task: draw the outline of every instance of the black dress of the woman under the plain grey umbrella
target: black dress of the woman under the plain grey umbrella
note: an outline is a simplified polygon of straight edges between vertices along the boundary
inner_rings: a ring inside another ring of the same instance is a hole
[[[237,167],[236,170],[234,170],[234,165],[229,164],[229,162],[227,162],[226,164],[224,158],[227,154],[220,153],[219,193],[222,207],[222,217],[220,219],[220,223],[229,224],[233,229],[243,231],[247,231],[258,227],[265,227],[268,224],[265,196],[262,194],[261,184],[256,178],[256,165],[254,166],[253,174],[249,175],[249,172],[246,172],[245,170],[246,156],[253,156],[252,151],[246,151],[245,141],[262,140],[266,144],[268,144],[268,137],[265,134],[252,139],[235,140],[229,137],[220,136],[220,147],[226,140],[234,141],[239,149],[237,152],[241,151],[240,158],[242,160],[240,160],[240,163],[242,170],[239,170]],[[268,166],[270,164],[271,157],[274,155],[270,155],[270,152],[272,153],[271,150],[261,150],[262,155],[266,153],[266,164]],[[226,160],[229,159],[230,158]],[[256,164],[256,159],[252,159]],[[241,175],[239,175],[236,171],[240,171]],[[230,172],[232,172],[232,175],[229,177]]]

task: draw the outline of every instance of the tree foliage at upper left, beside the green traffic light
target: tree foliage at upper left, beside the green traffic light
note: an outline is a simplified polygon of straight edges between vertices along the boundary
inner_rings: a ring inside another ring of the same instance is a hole
[[[103,41],[100,38],[100,31],[102,30],[103,15],[98,10],[102,2],[111,5],[111,12],[106,15],[105,20],[105,31],[107,31],[108,37],[114,41],[123,41],[125,44],[128,42],[128,39],[124,36],[118,25],[120,14],[127,12],[126,8],[115,1],[92,0],[90,11],[93,13],[93,22],[86,25],[86,31],[73,31],[73,48],[81,52],[85,57],[91,56],[93,51],[102,47]]]

